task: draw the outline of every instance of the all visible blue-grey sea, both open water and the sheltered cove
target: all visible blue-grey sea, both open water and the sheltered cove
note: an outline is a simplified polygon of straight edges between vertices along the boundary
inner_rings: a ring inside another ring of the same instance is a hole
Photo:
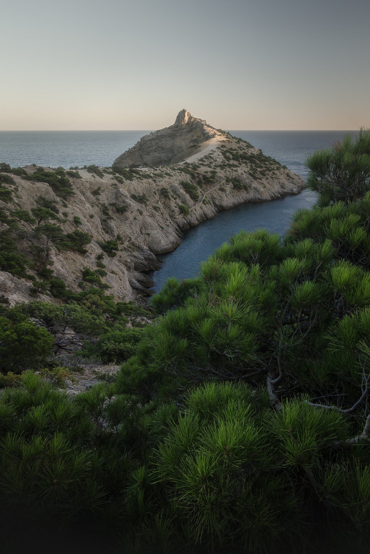
[[[30,163],[44,167],[96,165],[109,167],[122,152],[135,145],[148,131],[0,131],[0,162],[12,167]],[[261,148],[291,171],[307,178],[305,160],[309,153],[329,147],[348,132],[357,131],[233,131],[233,136]],[[279,200],[242,204],[220,212],[184,233],[182,243],[171,253],[160,254],[160,269],[149,276],[158,291],[169,277],[179,280],[193,277],[201,261],[215,248],[241,229],[266,228],[283,235],[292,214],[301,207],[310,208],[316,194],[305,189],[300,194]]]

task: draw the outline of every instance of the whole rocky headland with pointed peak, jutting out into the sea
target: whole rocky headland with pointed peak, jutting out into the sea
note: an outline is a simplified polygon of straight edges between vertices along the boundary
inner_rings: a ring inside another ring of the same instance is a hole
[[[111,168],[65,172],[2,164],[0,181],[0,296],[10,304],[59,301],[43,286],[45,266],[73,291],[104,286],[116,300],[150,294],[142,272],[157,269],[156,255],[176,248],[186,229],[220,210],[304,188],[276,160],[186,110]],[[13,268],[9,249],[27,260],[27,275]]]

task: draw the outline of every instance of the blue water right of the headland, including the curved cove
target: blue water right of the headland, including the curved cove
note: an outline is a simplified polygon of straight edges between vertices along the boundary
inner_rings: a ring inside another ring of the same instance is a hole
[[[307,154],[330,146],[346,132],[230,131],[232,135],[261,148],[264,154],[286,165],[303,179],[306,179],[308,173],[304,165]],[[160,269],[150,274],[155,283],[153,290],[161,290],[169,277],[181,280],[196,275],[201,261],[206,260],[216,248],[241,229],[253,231],[266,228],[271,233],[283,235],[289,228],[292,214],[298,208],[311,208],[315,202],[316,193],[305,189],[295,196],[258,204],[241,204],[218,213],[214,219],[189,229],[176,250],[160,255],[163,260]]]

